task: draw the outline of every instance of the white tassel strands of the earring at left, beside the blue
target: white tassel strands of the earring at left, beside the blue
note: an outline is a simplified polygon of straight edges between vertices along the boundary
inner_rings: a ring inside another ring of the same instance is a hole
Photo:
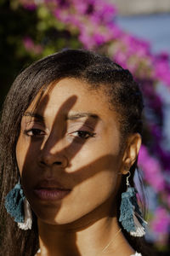
[[[29,202],[24,200],[24,213],[25,213],[25,221],[24,223],[18,223],[18,226],[21,230],[31,230],[32,224],[32,216],[31,216],[31,207]]]

